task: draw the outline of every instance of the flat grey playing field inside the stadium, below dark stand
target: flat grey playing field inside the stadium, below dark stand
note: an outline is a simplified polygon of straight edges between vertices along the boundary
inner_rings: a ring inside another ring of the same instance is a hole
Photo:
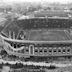
[[[29,39],[37,41],[61,41],[70,40],[70,36],[64,30],[36,30],[30,33]]]

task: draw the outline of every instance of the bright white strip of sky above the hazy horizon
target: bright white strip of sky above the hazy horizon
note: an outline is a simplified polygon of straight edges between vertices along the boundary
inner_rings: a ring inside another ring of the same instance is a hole
[[[60,2],[60,3],[70,3],[72,0],[0,0],[4,2]]]

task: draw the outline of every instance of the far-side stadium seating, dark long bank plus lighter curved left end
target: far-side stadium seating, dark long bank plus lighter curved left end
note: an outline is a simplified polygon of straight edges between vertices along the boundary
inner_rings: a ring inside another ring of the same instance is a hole
[[[11,36],[15,34],[15,38],[21,30],[31,30],[31,29],[51,29],[51,28],[71,28],[72,20],[71,19],[25,19],[25,20],[16,20],[7,25],[1,32],[5,36],[9,37],[9,31]]]

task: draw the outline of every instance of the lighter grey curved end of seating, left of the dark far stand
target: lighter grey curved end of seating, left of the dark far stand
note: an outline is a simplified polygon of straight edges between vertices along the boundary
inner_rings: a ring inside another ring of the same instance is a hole
[[[16,38],[19,30],[20,30],[20,28],[18,26],[16,26],[15,24],[9,24],[2,30],[1,33],[7,37],[10,37],[10,35],[11,35],[11,38],[13,39],[13,33],[15,33],[15,38]]]

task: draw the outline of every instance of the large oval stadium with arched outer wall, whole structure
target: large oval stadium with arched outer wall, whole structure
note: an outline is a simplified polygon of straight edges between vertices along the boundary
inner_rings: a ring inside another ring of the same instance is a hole
[[[8,55],[26,61],[39,61],[39,58],[47,61],[55,57],[65,60],[72,56],[72,19],[68,17],[14,20],[4,27],[0,36]]]

